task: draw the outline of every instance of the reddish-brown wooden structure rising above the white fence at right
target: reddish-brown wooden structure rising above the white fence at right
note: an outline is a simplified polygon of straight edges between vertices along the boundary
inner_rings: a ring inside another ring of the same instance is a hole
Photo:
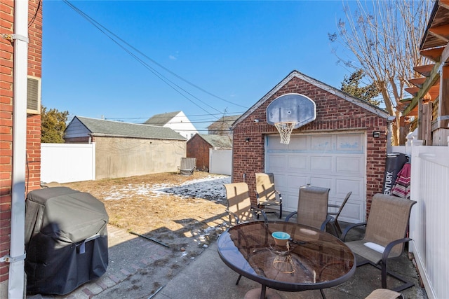
[[[449,9],[446,1],[435,1],[420,45],[420,54],[432,64],[410,66],[419,78],[406,88],[413,99],[403,103],[404,120],[412,120],[410,131],[417,128],[417,139],[427,146],[447,146],[449,138]],[[413,118],[412,118],[413,116]]]

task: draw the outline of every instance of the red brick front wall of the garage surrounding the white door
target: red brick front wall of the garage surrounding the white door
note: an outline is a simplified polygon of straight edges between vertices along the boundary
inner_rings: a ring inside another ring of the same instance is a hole
[[[276,97],[292,92],[305,95],[316,104],[316,120],[293,130],[293,134],[366,131],[368,145],[366,149],[366,213],[368,215],[373,195],[382,190],[387,155],[387,120],[297,77],[293,77],[234,127],[233,181],[243,181],[243,173],[246,173],[245,181],[249,189],[255,190],[255,172],[264,171],[264,137],[267,134],[279,134],[276,127],[267,124],[265,111],[268,104]],[[255,119],[260,120],[259,123],[254,123]],[[380,131],[380,138],[373,138],[373,131]],[[245,141],[247,137],[250,138],[250,142]],[[251,200],[255,202],[253,193],[251,193]]]

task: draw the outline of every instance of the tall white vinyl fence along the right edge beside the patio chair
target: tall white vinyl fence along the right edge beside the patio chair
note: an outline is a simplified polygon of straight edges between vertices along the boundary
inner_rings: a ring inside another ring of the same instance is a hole
[[[449,146],[411,146],[410,251],[429,298],[449,298]]]

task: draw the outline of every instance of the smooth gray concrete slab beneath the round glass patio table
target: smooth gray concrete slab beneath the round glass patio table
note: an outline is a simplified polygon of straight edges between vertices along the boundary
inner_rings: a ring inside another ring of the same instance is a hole
[[[273,219],[274,220],[274,219]],[[342,228],[348,223],[341,223]],[[349,239],[360,237],[361,230],[354,230]],[[401,292],[404,298],[426,299],[424,288],[420,287],[417,272],[413,261],[404,252],[401,258],[389,262],[389,270],[401,274],[415,286]],[[186,267],[180,274],[163,286],[154,299],[180,299],[180,298],[245,298],[246,292],[253,288],[260,288],[260,284],[242,277],[239,285],[236,279],[239,275],[222,262],[217,254],[216,242],[208,247],[201,256]],[[398,285],[398,281],[389,279],[388,286]],[[348,299],[366,298],[371,291],[381,288],[380,270],[370,265],[357,268],[354,276],[340,286],[324,289],[327,298]],[[275,291],[280,298],[322,298],[320,291],[283,292]]]

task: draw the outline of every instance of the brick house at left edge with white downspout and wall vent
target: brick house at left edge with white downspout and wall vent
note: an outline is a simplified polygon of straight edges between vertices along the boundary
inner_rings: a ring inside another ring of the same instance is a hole
[[[11,257],[0,262],[0,298],[24,294],[25,196],[41,181],[40,3],[0,4],[0,258]]]

